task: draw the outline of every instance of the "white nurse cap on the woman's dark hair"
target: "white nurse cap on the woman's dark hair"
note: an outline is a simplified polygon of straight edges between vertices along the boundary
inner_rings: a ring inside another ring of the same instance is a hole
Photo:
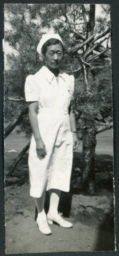
[[[39,44],[37,46],[37,52],[42,55],[42,46],[45,44],[45,42],[51,38],[55,38],[55,39],[58,39],[62,42],[62,39],[61,37],[59,36],[59,34],[43,34],[42,35],[42,38],[40,39],[39,41]],[[62,42],[62,45],[63,45],[63,42]]]

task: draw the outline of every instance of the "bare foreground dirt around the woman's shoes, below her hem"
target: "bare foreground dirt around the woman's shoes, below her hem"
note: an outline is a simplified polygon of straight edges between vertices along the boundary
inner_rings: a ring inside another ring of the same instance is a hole
[[[107,205],[111,202],[111,193],[102,190],[102,194],[105,194],[106,199],[110,200],[105,204],[105,210],[107,208],[107,213],[109,213],[111,209]],[[29,184],[7,186],[6,252],[14,254],[114,250],[113,225],[109,216],[107,217],[103,209],[98,208],[98,212],[96,212],[97,209],[95,207],[94,210],[94,205],[91,205],[91,210],[89,206],[83,207],[82,210],[81,197],[83,197],[83,202],[85,201],[85,204],[88,205],[89,197],[73,196],[70,218],[65,218],[73,223],[73,228],[65,229],[54,224],[51,226],[53,234],[44,236],[39,232],[34,221],[35,204],[33,199],[29,197]],[[101,200],[103,197],[101,194],[97,196]],[[94,198],[92,199],[93,202]],[[107,222],[106,219],[109,222],[108,225],[104,224]]]

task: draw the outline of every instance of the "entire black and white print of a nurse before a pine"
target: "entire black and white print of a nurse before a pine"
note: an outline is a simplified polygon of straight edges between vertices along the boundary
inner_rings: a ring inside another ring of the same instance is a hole
[[[116,250],[110,12],[4,5],[6,254]]]

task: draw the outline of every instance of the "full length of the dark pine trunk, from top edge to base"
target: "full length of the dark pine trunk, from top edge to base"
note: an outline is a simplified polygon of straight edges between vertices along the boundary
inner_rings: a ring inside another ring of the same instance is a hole
[[[95,5],[90,4],[89,19],[87,24],[87,38],[94,32],[95,26]],[[91,49],[90,49],[91,47]],[[93,49],[92,44],[87,44],[86,52],[83,56],[83,60],[91,54]],[[86,93],[90,91],[90,83],[88,84],[88,77],[85,65],[84,77],[86,84]],[[82,190],[88,194],[94,194],[94,151],[96,147],[96,127],[94,123],[93,106],[88,105],[88,108],[84,111],[84,131],[83,131],[83,173],[82,173]]]

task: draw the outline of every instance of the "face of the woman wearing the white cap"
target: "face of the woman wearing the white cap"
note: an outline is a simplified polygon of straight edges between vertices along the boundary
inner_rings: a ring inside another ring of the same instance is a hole
[[[63,55],[63,49],[60,44],[47,46],[47,51],[45,53],[47,65],[53,69],[59,68]]]

